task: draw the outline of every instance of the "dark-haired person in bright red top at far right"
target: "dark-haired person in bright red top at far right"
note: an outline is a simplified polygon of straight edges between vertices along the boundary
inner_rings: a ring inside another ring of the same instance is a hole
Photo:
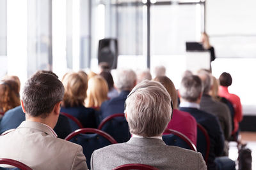
[[[239,129],[239,122],[243,120],[243,113],[242,113],[242,105],[240,98],[236,96],[236,94],[230,94],[228,92],[228,87],[232,84],[232,77],[229,73],[222,73],[220,75],[220,87],[219,87],[219,96],[225,97],[233,104],[233,108],[235,111],[234,115],[234,131],[232,134],[235,134]]]

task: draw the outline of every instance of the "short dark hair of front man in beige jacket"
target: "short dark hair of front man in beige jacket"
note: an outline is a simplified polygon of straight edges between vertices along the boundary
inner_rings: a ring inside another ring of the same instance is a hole
[[[62,101],[64,87],[58,77],[48,73],[36,73],[26,82],[22,101],[31,117],[45,118],[54,105]]]

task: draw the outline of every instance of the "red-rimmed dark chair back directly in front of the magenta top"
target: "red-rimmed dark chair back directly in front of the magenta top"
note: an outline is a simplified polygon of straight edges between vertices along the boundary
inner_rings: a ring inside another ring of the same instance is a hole
[[[184,134],[173,129],[165,129],[164,133],[168,133],[163,135],[163,141],[166,143],[166,145],[179,146],[180,148],[185,148],[196,152],[196,146]]]

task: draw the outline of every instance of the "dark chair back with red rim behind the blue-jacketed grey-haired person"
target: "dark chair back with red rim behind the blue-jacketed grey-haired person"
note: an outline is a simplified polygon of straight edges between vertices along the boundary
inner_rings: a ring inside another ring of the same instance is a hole
[[[110,134],[118,143],[127,142],[131,138],[124,113],[117,113],[104,118],[98,129]]]

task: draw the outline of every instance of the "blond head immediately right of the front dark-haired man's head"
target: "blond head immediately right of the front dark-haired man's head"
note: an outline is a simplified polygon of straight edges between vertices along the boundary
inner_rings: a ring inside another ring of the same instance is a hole
[[[86,98],[87,81],[79,73],[67,73],[62,83],[65,87],[63,105],[65,107],[83,106]]]

